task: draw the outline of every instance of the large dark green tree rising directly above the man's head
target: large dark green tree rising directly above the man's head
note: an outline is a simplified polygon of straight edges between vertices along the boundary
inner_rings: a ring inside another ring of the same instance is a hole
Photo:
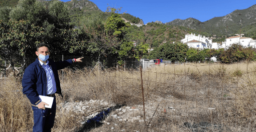
[[[85,36],[84,32],[69,25],[69,10],[61,1],[50,1],[44,6],[36,0],[21,0],[10,12],[10,18],[15,21],[26,20],[42,27],[43,41],[51,46],[55,54],[78,52],[80,48],[75,45],[85,42],[79,38]]]

